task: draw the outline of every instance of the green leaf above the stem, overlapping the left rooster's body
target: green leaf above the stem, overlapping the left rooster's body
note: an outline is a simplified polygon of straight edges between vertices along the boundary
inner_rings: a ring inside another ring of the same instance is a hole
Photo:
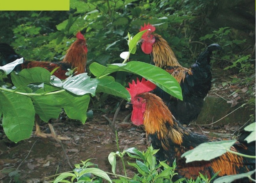
[[[50,72],[41,67],[23,69],[18,74],[12,72],[11,81],[17,88],[27,86],[30,83],[44,82],[50,84]]]

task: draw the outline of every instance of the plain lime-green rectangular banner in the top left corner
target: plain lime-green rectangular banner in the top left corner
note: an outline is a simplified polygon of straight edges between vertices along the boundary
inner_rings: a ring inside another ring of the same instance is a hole
[[[0,11],[69,11],[69,0],[0,0]]]

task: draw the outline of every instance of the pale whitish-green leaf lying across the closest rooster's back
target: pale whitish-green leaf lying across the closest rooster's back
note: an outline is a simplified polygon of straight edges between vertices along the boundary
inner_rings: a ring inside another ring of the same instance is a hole
[[[181,157],[186,157],[186,163],[202,160],[209,161],[226,153],[235,142],[235,140],[229,140],[202,143],[196,148],[185,152]]]

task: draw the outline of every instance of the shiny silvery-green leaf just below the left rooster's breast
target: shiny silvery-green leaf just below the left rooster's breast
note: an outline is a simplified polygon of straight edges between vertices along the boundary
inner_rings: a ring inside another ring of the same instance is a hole
[[[63,88],[76,95],[91,93],[94,96],[97,84],[90,79],[87,73],[82,73],[64,81]]]

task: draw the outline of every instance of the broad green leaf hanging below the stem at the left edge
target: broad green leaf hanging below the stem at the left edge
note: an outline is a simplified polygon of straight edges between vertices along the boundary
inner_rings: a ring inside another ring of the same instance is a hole
[[[0,92],[0,105],[6,136],[15,143],[29,138],[35,119],[35,110],[30,97],[11,92]]]

